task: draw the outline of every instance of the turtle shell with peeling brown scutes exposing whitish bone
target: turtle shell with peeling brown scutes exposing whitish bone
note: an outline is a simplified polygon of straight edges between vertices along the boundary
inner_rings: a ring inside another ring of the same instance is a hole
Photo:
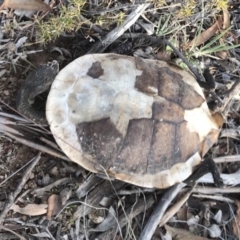
[[[222,124],[190,73],[117,54],[85,55],[62,69],[46,116],[72,161],[149,188],[190,176]]]

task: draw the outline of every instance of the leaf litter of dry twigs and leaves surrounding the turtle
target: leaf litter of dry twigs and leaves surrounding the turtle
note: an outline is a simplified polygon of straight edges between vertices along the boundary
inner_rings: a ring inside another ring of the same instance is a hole
[[[63,4],[74,8],[77,0],[70,3],[29,0],[27,4],[4,1],[0,34],[0,219],[5,229],[1,229],[1,239],[8,229],[12,237],[18,234],[25,239],[30,236],[143,239],[144,227],[166,190],[150,191],[118,181],[109,182],[71,162],[64,162],[67,158],[51,144],[53,138],[48,129],[14,111],[17,89],[35,67],[53,59],[64,67],[90,52],[140,54],[152,59],[166,56],[167,60],[175,61],[178,57],[167,52],[166,46],[151,46],[147,38],[134,38],[139,32],[154,35],[158,30],[172,43],[178,43],[176,47],[192,65],[199,66],[200,71],[212,69],[218,86],[215,93],[220,103],[224,103],[239,79],[240,9],[234,2],[227,8],[221,7],[223,2],[189,1],[186,4],[183,1],[180,5],[174,1],[153,1],[139,5],[126,1],[97,4],[86,1],[79,30],[75,26],[60,32],[56,39],[43,42],[38,24],[52,16],[57,18]],[[19,13],[19,10],[25,12]],[[33,11],[30,13],[30,10]],[[184,16],[183,12],[188,15]],[[184,46],[191,47],[198,55]],[[207,94],[207,98],[209,104],[216,105],[212,93]],[[239,238],[239,89],[228,99],[229,112],[221,138],[209,153],[219,162],[224,188],[213,185],[211,174],[202,177],[191,189],[182,188],[173,202],[165,203],[172,207],[167,207],[167,212],[163,212],[165,217],[144,239]],[[45,154],[27,172],[31,164],[28,162],[38,151]],[[10,224],[19,228],[12,228]]]

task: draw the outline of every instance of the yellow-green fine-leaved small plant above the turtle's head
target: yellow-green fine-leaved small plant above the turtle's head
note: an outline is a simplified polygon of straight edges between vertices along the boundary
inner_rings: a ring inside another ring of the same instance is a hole
[[[59,16],[53,16],[48,21],[38,20],[40,39],[44,42],[50,42],[64,31],[77,31],[83,21],[80,12],[86,3],[86,0],[71,0],[68,7],[62,6]]]

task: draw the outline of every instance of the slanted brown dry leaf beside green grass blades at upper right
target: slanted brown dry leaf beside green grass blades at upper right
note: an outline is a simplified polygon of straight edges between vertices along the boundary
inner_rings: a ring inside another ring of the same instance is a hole
[[[219,18],[217,22],[213,24],[210,28],[202,32],[199,36],[196,36],[193,41],[188,45],[189,47],[197,47],[203,43],[205,43],[208,39],[210,39],[219,29],[222,28],[223,19]]]

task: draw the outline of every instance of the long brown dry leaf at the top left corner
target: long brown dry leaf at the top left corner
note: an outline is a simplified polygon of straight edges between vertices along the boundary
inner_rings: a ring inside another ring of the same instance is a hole
[[[5,0],[0,7],[21,10],[50,11],[51,8],[41,0]]]

